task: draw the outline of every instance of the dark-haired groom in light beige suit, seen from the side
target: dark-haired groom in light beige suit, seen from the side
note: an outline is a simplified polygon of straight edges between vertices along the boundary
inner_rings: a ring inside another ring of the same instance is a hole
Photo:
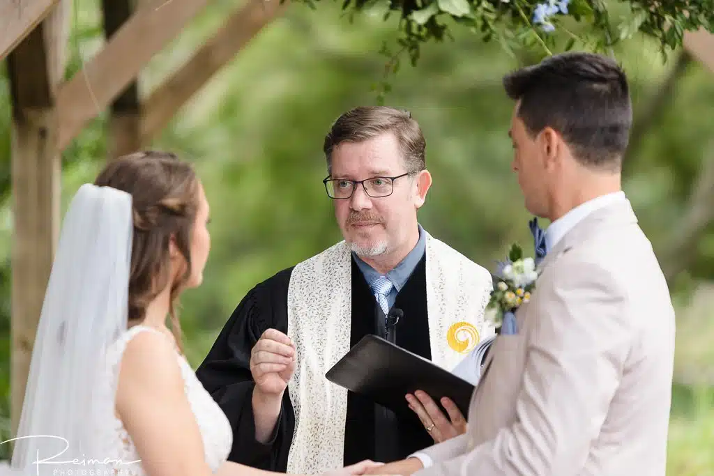
[[[486,358],[468,431],[378,472],[663,476],[675,315],[620,190],[625,74],[603,56],[562,54],[504,86],[513,171],[528,211],[551,222],[535,292]]]

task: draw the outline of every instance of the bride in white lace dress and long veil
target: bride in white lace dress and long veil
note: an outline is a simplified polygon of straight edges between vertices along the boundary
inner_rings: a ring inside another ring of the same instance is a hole
[[[182,353],[174,302],[201,284],[207,224],[201,182],[171,153],[124,156],[79,188],[46,290],[13,467],[53,476],[277,474],[227,461],[231,426]]]

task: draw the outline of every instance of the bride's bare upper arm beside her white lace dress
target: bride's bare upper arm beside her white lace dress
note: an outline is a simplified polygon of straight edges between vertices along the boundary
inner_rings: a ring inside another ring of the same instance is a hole
[[[138,333],[126,345],[116,410],[147,475],[212,475],[183,390],[176,350],[163,335]]]

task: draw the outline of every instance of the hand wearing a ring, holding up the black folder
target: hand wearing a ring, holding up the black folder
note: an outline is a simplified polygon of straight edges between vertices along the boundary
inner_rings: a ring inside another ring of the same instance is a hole
[[[406,395],[409,408],[419,417],[434,442],[441,443],[466,433],[466,418],[450,398],[443,397],[441,399],[441,405],[448,412],[449,417],[447,418],[429,395],[421,390],[417,390],[415,394]],[[450,419],[451,421],[449,421]]]

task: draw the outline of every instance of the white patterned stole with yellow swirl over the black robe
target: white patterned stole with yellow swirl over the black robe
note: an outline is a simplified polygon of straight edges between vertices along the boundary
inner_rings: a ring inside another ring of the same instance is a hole
[[[426,301],[431,356],[453,369],[478,340],[493,335],[484,310],[491,274],[426,235]],[[343,467],[347,390],[325,373],[350,349],[351,253],[344,241],[296,265],[288,286],[288,336],[297,367],[288,383],[295,430],[287,472]]]

